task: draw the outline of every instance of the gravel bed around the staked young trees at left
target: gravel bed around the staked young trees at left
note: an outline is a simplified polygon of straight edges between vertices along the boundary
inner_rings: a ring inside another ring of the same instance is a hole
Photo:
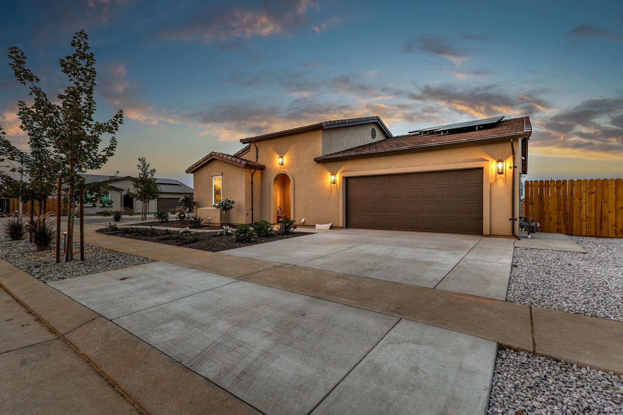
[[[19,241],[11,241],[7,236],[0,235],[0,258],[43,282],[102,273],[103,271],[152,262],[151,259],[141,256],[111,251],[88,244],[84,245],[84,261],[80,261],[80,244],[75,243],[74,254],[77,256],[77,260],[65,263],[61,253],[61,262],[57,264],[55,262],[54,242],[51,246],[52,249],[47,251],[37,251],[34,244],[29,243],[27,235]]]

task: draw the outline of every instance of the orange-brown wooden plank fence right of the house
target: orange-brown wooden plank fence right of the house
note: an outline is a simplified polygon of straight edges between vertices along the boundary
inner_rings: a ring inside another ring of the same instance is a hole
[[[623,179],[526,180],[523,215],[539,231],[623,238]]]

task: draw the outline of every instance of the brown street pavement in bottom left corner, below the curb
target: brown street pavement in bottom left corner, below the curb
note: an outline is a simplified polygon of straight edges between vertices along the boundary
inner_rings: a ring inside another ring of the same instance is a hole
[[[141,414],[4,289],[0,315],[0,413]]]

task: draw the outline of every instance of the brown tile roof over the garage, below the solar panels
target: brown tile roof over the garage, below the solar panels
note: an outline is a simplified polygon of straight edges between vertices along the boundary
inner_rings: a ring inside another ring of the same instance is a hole
[[[532,134],[530,117],[510,118],[500,121],[495,127],[480,129],[478,131],[465,131],[462,133],[449,134],[404,134],[402,136],[389,137],[383,140],[363,144],[351,149],[326,154],[316,157],[316,162],[327,159],[341,159],[344,157],[364,156],[379,152],[408,151],[419,147],[442,146],[446,144],[459,144],[459,142],[476,141],[480,139],[495,139],[514,134]]]

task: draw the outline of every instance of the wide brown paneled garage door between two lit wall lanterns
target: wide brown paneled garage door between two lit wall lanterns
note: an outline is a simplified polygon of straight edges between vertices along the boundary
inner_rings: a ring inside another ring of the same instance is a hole
[[[482,235],[482,169],[346,177],[346,227]]]

